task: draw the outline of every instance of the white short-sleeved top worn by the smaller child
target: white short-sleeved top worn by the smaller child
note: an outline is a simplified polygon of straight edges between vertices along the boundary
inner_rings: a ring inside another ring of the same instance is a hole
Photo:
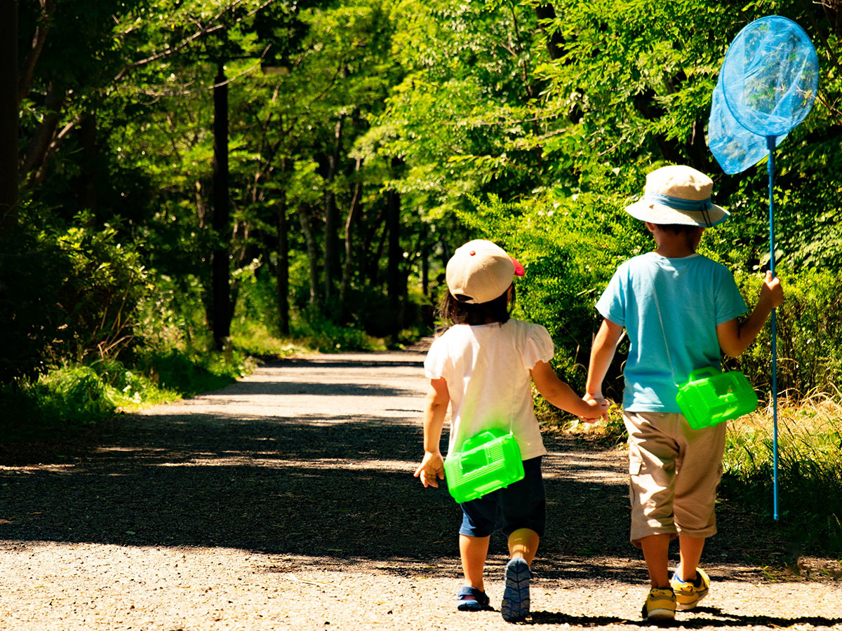
[[[511,427],[524,460],[544,455],[529,371],[539,361],[549,362],[554,350],[543,326],[520,320],[457,324],[436,338],[424,360],[424,374],[447,382],[448,452],[489,427]]]

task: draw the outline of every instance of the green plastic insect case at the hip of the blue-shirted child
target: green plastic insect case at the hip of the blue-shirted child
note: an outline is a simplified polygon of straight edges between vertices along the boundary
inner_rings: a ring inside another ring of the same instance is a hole
[[[710,366],[691,372],[675,401],[690,427],[702,429],[754,411],[757,393],[738,370],[722,373]]]

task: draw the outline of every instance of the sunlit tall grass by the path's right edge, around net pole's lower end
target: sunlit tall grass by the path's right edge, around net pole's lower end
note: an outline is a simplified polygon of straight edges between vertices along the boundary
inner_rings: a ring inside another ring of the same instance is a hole
[[[797,543],[842,554],[842,405],[839,396],[812,395],[778,406],[778,506]],[[722,494],[770,516],[772,415],[759,410],[731,422]]]

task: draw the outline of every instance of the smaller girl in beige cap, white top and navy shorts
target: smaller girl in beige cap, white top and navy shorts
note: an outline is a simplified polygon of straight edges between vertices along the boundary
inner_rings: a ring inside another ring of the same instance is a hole
[[[557,378],[549,361],[554,348],[546,328],[509,317],[514,276],[524,268],[491,241],[469,241],[447,263],[448,292],[441,315],[452,326],[434,342],[424,361],[430,380],[424,411],[424,459],[415,476],[424,486],[445,479],[439,450],[450,406],[450,453],[483,430],[514,433],[525,477],[504,489],[460,504],[459,549],[466,585],[457,593],[461,611],[488,609],[482,574],[491,534],[509,539],[500,612],[509,622],[523,620],[530,608],[530,569],[544,534],[545,499],[541,457],[546,453],[532,407],[530,379],[552,405],[585,420],[608,409],[585,401]]]

